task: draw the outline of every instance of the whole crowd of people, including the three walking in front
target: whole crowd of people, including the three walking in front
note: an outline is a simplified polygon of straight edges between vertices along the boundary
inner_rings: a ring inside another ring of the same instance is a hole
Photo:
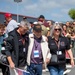
[[[42,75],[43,68],[48,68],[50,75],[63,75],[66,54],[74,67],[75,21],[52,23],[40,15],[36,22],[29,23],[23,18],[17,23],[10,13],[4,16],[6,22],[0,23],[0,54],[5,48],[3,54],[10,69],[0,63],[3,75],[11,75],[15,67],[22,70],[27,67],[30,75]],[[51,61],[53,55],[57,62]]]

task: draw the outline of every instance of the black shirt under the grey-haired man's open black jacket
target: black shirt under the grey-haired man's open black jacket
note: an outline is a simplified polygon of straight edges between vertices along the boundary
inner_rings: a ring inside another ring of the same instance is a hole
[[[25,41],[25,36],[21,36],[17,31],[17,36],[18,36],[18,44],[19,44],[19,61],[18,61],[18,66],[23,67],[26,65],[26,46],[23,41]]]

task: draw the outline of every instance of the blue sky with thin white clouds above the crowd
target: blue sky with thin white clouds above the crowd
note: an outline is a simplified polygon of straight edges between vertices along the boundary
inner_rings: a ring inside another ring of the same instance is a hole
[[[18,10],[17,10],[18,4]],[[72,20],[68,11],[75,8],[75,0],[0,0],[0,11],[21,14],[31,17],[44,15],[46,19],[58,22]]]

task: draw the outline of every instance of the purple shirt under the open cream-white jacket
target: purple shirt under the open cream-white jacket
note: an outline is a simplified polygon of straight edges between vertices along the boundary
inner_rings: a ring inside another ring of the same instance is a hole
[[[34,45],[31,53],[31,63],[40,64],[42,63],[43,56],[41,50],[41,39],[34,37]]]

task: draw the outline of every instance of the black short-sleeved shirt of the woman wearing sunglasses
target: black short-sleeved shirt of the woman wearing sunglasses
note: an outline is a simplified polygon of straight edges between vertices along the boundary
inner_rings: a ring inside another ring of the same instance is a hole
[[[58,42],[60,41],[59,44],[59,48],[58,48]],[[60,63],[57,63],[58,66],[60,66],[60,64],[65,64],[65,51],[70,49],[70,43],[68,38],[66,37],[60,37],[59,41],[55,41],[54,38],[52,37],[48,37],[48,45],[50,48],[50,52],[51,54],[56,54],[58,55],[58,61],[60,61]],[[52,64],[50,63],[49,65],[56,65],[57,64]],[[61,67],[64,67],[65,65],[62,65]]]

